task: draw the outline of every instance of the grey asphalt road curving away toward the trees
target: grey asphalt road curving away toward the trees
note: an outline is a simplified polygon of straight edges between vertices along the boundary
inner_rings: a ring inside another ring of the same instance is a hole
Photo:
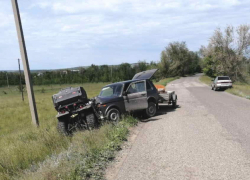
[[[199,75],[171,82],[176,109],[141,123],[107,179],[250,179],[250,101],[212,91]]]

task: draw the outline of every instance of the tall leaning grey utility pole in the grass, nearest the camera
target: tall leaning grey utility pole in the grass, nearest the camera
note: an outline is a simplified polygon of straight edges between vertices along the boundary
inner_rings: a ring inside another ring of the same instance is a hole
[[[25,76],[25,82],[26,82],[26,89],[28,93],[31,118],[32,118],[33,124],[38,127],[39,120],[38,120],[38,115],[37,115],[35,96],[34,96],[31,77],[30,77],[29,61],[28,61],[28,55],[27,55],[25,41],[24,41],[22,22],[21,22],[21,18],[19,14],[18,3],[17,3],[17,0],[11,0],[11,3],[12,3],[13,13],[14,13],[14,18],[15,18],[15,23],[16,23],[21,57],[23,61],[23,70],[24,70],[24,76]]]

